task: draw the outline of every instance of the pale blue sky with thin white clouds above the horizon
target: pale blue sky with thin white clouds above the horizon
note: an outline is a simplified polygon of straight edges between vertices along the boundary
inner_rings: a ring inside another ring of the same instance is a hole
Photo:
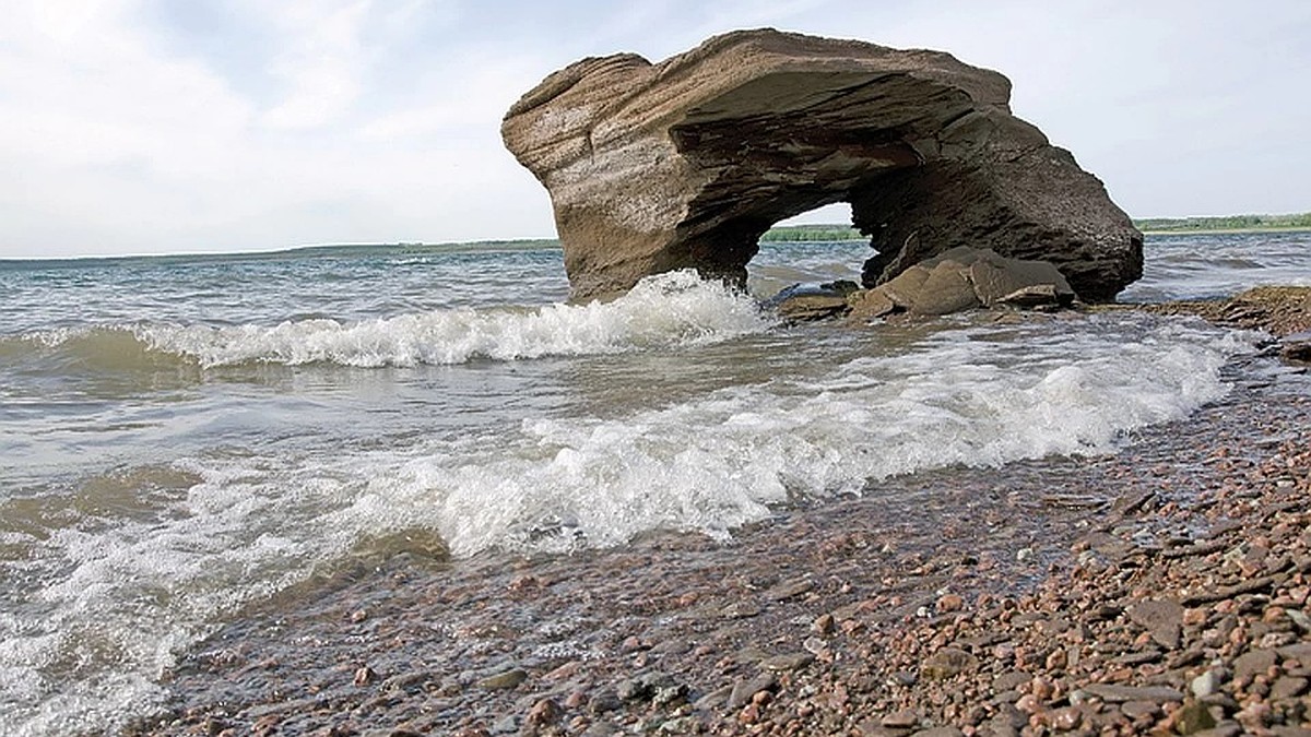
[[[743,28],[949,51],[1133,216],[1311,210],[1304,0],[0,0],[0,258],[553,237],[506,109]],[[834,222],[825,210],[805,222]]]

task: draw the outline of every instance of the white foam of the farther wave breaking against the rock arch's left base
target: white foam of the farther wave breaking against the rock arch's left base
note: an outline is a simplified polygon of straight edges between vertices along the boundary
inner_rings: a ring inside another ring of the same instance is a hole
[[[138,334],[156,350],[189,355],[208,367],[248,362],[416,366],[687,345],[768,325],[751,299],[692,271],[674,271],[649,277],[608,303],[440,309],[358,323],[152,325],[138,328]]]

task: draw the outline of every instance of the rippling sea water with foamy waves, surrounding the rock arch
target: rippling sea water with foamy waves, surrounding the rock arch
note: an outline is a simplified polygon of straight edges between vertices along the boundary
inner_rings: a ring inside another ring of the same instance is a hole
[[[759,307],[868,254],[766,244],[750,295],[674,273],[604,304],[551,248],[0,262],[0,734],[149,712],[189,645],[361,551],[728,543],[891,475],[1114,452],[1256,340]],[[1151,237],[1125,298],[1308,274],[1308,233]]]

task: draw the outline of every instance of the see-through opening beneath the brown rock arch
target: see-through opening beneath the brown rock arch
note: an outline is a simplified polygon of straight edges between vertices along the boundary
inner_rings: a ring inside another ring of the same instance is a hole
[[[835,202],[779,220],[760,236],[747,262],[747,291],[768,300],[783,291],[818,290],[835,281],[860,283],[873,252],[851,220],[851,205]]]

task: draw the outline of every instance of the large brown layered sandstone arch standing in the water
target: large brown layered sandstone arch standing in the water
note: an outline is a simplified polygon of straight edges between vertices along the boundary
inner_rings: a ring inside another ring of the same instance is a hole
[[[659,64],[583,59],[501,132],[551,194],[574,298],[682,268],[741,281],[773,223],[850,202],[877,249],[867,286],[968,245],[1113,299],[1141,275],[1141,233],[1008,98],[948,54],[766,29]]]

